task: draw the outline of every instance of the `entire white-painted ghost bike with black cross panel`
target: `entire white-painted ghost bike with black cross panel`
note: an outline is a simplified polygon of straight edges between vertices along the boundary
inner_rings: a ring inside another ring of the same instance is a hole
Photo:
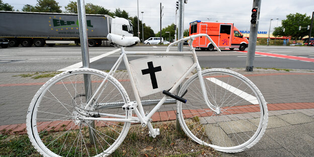
[[[151,124],[153,114],[163,104],[176,103],[180,125],[195,142],[223,152],[252,147],[266,130],[266,102],[242,74],[202,70],[192,47],[200,36],[220,51],[208,35],[199,34],[170,44],[166,52],[128,52],[124,47],[134,44],[133,37],[109,34],[108,39],[121,47],[110,72],[64,71],[35,94],[26,121],[30,141],[44,156],[107,156],[122,143],[131,123],[147,126],[152,137],[159,135]],[[170,46],[187,40],[190,51],[169,51]],[[128,55],[145,56],[129,61]],[[129,84],[112,76],[122,60]],[[129,99],[121,84],[131,85],[135,100]],[[163,93],[160,100],[140,99],[158,92]],[[143,106],[151,103],[155,107],[145,112]]]

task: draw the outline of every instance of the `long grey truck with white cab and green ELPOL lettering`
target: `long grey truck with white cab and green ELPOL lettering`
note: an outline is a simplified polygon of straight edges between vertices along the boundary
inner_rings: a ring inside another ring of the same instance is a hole
[[[86,15],[90,47],[107,41],[108,33],[133,36],[132,23],[109,15]],[[9,46],[53,46],[80,43],[77,14],[0,11],[0,37]]]

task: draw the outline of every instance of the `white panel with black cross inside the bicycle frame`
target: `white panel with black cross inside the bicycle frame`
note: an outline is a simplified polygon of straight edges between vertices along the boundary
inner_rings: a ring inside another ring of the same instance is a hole
[[[171,89],[192,66],[191,56],[155,55],[129,61],[140,97]]]

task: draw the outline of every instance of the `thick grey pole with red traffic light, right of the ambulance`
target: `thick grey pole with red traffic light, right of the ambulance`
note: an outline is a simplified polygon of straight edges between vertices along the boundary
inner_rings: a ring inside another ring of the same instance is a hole
[[[248,48],[248,55],[247,55],[247,62],[246,62],[246,71],[253,71],[253,61],[255,56],[255,49],[256,49],[256,40],[257,40],[257,32],[258,32],[258,25],[260,19],[260,11],[261,11],[261,0],[254,0],[253,7],[258,7],[258,17],[256,25],[251,24],[250,27],[250,40],[249,40],[249,48]]]

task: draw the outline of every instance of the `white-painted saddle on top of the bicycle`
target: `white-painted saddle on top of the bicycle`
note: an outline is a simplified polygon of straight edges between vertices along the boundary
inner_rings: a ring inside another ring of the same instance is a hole
[[[109,33],[107,35],[107,39],[116,47],[126,47],[126,46],[131,46],[131,45],[136,45],[139,43],[139,38],[138,37],[125,37],[121,35],[116,35]]]

